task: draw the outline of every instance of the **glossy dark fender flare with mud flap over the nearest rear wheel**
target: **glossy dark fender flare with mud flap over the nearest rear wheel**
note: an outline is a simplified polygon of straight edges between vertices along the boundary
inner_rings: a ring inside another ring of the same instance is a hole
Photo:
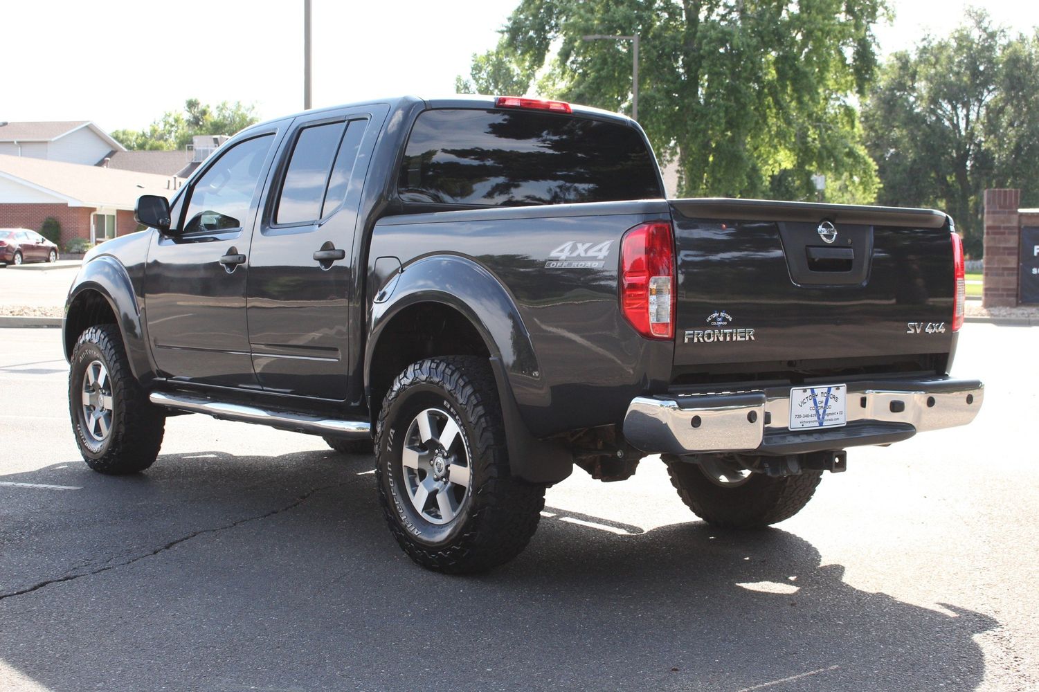
[[[405,308],[437,302],[463,315],[490,353],[513,476],[534,483],[557,483],[572,471],[572,456],[556,441],[535,438],[524,422],[513,382],[540,378],[534,345],[512,296],[477,262],[455,255],[422,258],[392,277],[392,292],[372,304],[365,349],[365,388],[371,390],[372,360],[382,330]],[[388,285],[389,288],[389,285]]]

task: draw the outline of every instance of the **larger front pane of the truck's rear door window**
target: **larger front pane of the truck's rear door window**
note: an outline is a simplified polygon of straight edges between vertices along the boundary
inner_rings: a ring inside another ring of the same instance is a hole
[[[329,123],[300,131],[282,184],[275,223],[314,221],[321,216],[328,170],[345,127],[345,123]]]

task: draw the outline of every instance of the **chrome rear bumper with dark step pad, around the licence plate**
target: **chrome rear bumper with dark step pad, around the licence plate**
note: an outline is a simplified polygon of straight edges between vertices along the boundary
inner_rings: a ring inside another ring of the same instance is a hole
[[[623,431],[629,443],[649,453],[798,454],[888,444],[926,430],[966,425],[978,415],[984,392],[978,380],[948,377],[848,382],[847,424],[802,430],[787,427],[789,387],[672,392],[634,399]]]

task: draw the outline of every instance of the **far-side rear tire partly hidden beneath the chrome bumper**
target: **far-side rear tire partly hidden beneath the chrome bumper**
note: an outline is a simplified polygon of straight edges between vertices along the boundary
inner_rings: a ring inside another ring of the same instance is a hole
[[[743,483],[722,487],[687,461],[669,461],[667,473],[678,497],[693,513],[712,526],[754,529],[778,524],[801,511],[823,477],[821,471],[773,478],[751,474]]]

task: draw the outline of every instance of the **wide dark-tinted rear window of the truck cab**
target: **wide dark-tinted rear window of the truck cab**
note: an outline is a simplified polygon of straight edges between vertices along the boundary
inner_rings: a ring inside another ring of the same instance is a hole
[[[427,110],[404,150],[405,203],[479,207],[662,196],[637,130],[531,111]]]

